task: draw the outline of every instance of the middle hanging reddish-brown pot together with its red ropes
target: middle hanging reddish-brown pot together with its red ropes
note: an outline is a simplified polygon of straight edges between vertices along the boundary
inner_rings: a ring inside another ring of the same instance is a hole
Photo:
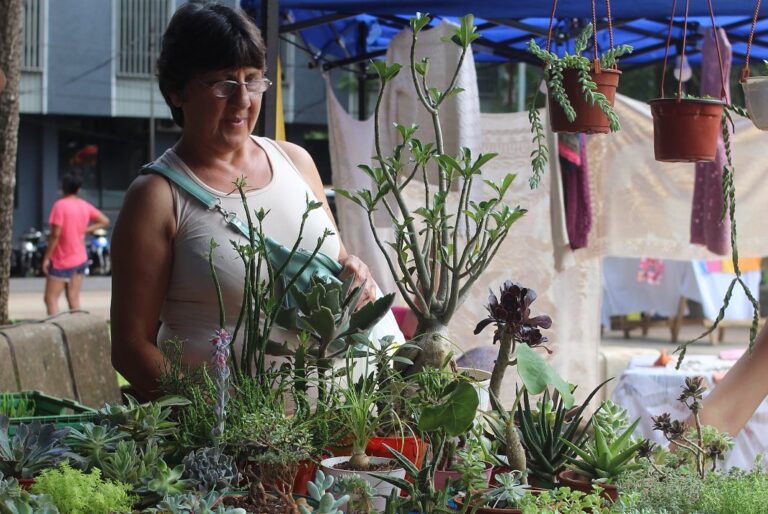
[[[686,38],[688,35],[688,4],[685,0],[683,18],[683,44],[680,59],[680,76],[685,61]],[[672,14],[669,18],[669,32],[664,50],[664,66],[661,74],[661,98],[651,100],[653,115],[653,149],[657,161],[662,162],[698,162],[712,161],[717,155],[717,140],[720,135],[720,120],[725,105],[725,77],[720,43],[717,38],[717,26],[712,10],[712,1],[707,0],[712,29],[715,31],[715,45],[720,64],[720,98],[684,98],[683,82],[678,82],[675,98],[664,96],[664,81],[667,75],[667,58],[672,39],[672,26],[675,18],[677,0],[672,2]]]

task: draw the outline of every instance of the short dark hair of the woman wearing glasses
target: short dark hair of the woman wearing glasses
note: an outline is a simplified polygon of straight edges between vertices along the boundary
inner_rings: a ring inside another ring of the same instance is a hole
[[[173,120],[184,126],[184,114],[171,102],[202,73],[254,67],[266,71],[261,31],[240,9],[222,4],[189,2],[171,18],[163,34],[157,77]]]

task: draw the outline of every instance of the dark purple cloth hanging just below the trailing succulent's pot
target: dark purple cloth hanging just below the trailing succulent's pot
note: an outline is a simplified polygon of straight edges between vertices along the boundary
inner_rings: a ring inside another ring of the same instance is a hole
[[[571,249],[586,248],[592,228],[587,145],[584,134],[560,134],[560,169],[565,197],[565,224]]]

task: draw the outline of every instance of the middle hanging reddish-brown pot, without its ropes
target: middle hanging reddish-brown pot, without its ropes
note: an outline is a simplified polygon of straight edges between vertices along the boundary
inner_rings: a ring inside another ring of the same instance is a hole
[[[657,161],[715,160],[723,102],[657,98],[649,103],[653,115],[653,150]]]

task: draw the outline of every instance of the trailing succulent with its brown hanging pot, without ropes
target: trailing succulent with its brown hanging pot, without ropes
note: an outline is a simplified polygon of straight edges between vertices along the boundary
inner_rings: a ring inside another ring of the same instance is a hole
[[[554,132],[605,134],[620,129],[619,118],[613,110],[616,88],[621,72],[616,68],[619,57],[632,52],[629,45],[612,47],[594,60],[582,55],[592,37],[591,23],[576,37],[573,54],[559,57],[541,48],[536,40],[528,43],[528,51],[544,63],[544,80],[549,97],[549,120]],[[531,110],[535,109],[535,100]],[[531,118],[529,111],[529,119]],[[538,115],[536,115],[538,116]]]

